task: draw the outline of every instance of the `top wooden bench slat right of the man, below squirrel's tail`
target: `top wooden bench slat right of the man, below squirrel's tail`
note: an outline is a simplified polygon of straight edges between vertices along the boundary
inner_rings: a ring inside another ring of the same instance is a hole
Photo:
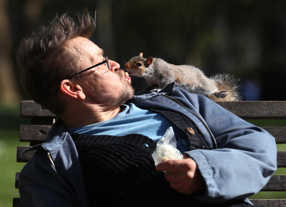
[[[242,119],[286,119],[286,101],[217,102]]]

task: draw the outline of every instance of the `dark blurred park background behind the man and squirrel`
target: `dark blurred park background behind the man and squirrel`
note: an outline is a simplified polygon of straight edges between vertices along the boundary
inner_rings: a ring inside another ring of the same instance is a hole
[[[194,65],[207,76],[234,74],[244,100],[286,100],[284,0],[0,0],[0,206],[18,197],[13,182],[22,164],[16,164],[16,146],[25,145],[18,143],[18,131],[26,123],[19,119],[19,102],[30,99],[18,84],[14,51],[57,13],[84,7],[97,11],[92,41],[122,68],[143,52]],[[132,85],[141,91],[147,84],[132,77]]]

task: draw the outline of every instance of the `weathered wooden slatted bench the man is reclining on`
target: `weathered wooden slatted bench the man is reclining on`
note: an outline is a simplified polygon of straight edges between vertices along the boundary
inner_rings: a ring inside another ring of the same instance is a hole
[[[286,101],[239,101],[217,102],[222,107],[242,119],[286,119]],[[56,118],[50,111],[41,108],[33,101],[22,101],[21,118],[31,119],[30,125],[20,126],[20,141],[30,142],[30,146],[44,141]],[[262,127],[272,134],[277,144],[286,143],[286,127]],[[21,154],[29,146],[17,148],[17,162],[27,162],[33,151]],[[278,151],[277,166],[286,167],[286,151]],[[15,186],[18,188],[19,172],[16,173]],[[286,191],[286,175],[273,175],[261,191]],[[258,206],[286,207],[285,199],[251,199]],[[20,198],[13,198],[13,207],[22,206]]]

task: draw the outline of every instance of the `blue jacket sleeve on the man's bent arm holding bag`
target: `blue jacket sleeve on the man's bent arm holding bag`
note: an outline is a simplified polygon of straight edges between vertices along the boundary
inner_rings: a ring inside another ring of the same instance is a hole
[[[197,163],[206,184],[206,190],[193,197],[216,203],[257,193],[277,167],[274,137],[204,96],[199,95],[194,105],[218,149],[185,152]]]

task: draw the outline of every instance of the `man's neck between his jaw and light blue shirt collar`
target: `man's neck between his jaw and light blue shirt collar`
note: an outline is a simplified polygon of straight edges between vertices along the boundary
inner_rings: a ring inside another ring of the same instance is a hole
[[[66,110],[69,113],[64,113],[60,118],[69,130],[112,119],[123,110],[123,106],[118,106],[109,111],[101,111],[98,107],[81,107],[81,110],[78,108]]]

